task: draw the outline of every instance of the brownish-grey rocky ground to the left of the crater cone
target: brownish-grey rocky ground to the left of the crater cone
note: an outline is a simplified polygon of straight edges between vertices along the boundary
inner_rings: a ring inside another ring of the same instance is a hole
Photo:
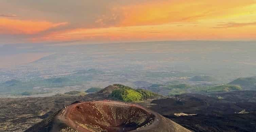
[[[61,108],[79,101],[104,100],[106,95],[55,95],[51,97],[1,98],[0,132],[23,132]]]

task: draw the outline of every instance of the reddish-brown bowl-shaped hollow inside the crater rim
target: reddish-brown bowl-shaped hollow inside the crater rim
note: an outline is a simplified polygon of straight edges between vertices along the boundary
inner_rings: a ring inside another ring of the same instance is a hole
[[[135,105],[120,102],[80,103],[68,113],[76,127],[96,132],[127,132],[151,125],[155,115]]]

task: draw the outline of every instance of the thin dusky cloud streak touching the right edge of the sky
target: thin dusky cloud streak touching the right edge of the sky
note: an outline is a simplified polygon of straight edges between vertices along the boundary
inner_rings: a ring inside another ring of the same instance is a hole
[[[256,22],[247,22],[247,23],[228,22],[228,23],[218,24],[217,27],[212,27],[212,28],[231,28],[231,27],[243,27],[243,26],[256,26]]]

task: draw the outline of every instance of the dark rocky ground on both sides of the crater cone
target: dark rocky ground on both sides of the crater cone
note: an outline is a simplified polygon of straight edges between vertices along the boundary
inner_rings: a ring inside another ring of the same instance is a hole
[[[75,101],[105,100],[108,94],[1,98],[0,132],[22,132]],[[111,99],[109,99],[111,100]],[[183,94],[136,103],[196,132],[256,131],[255,91]],[[248,113],[239,114],[245,110]],[[197,114],[176,116],[175,113]]]

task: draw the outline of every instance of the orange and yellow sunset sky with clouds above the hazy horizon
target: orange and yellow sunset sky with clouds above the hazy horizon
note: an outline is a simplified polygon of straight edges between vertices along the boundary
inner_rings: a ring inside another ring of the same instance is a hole
[[[256,40],[256,0],[1,0],[0,44]]]

